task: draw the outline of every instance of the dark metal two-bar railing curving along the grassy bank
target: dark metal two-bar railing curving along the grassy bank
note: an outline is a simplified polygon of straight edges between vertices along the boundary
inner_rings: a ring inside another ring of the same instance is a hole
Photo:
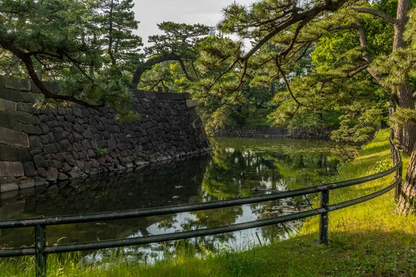
[[[36,260],[36,276],[46,276],[46,255],[51,253],[64,253],[71,251],[83,251],[94,249],[105,249],[112,247],[126,247],[139,244],[148,244],[153,242],[165,242],[169,240],[181,240],[186,238],[196,238],[205,235],[216,235],[220,233],[228,233],[233,231],[240,231],[244,229],[251,229],[260,226],[268,226],[272,224],[284,223],[292,220],[300,220],[305,217],[313,215],[320,215],[320,231],[319,241],[321,244],[328,244],[328,220],[329,212],[336,211],[340,208],[352,206],[361,202],[378,197],[387,193],[389,190],[395,188],[395,197],[398,195],[402,179],[402,162],[399,149],[393,142],[393,137],[390,136],[390,150],[392,154],[393,167],[374,175],[361,177],[358,179],[351,179],[347,181],[340,181],[333,184],[322,184],[320,186],[313,186],[310,188],[302,188],[298,190],[288,190],[284,192],[271,193],[268,195],[258,195],[253,197],[244,197],[239,199],[228,199],[216,202],[206,202],[198,204],[187,204],[177,206],[165,206],[160,208],[145,208],[130,211],[117,211],[107,213],[91,213],[85,215],[65,215],[58,217],[42,217],[24,220],[3,220],[0,221],[0,229],[11,229],[21,227],[35,228],[35,246],[34,247],[20,247],[12,249],[0,249],[0,257],[12,256],[29,256],[34,255]],[[367,181],[372,181],[385,177],[395,172],[394,183],[363,197],[351,199],[346,202],[329,205],[329,191],[337,188],[345,188],[347,186],[354,186],[356,184],[363,184]],[[292,213],[289,215],[282,215],[279,217],[270,217],[263,220],[256,220],[253,222],[245,222],[239,224],[231,224],[227,226],[218,226],[207,229],[183,231],[178,233],[166,233],[162,235],[148,235],[139,238],[123,238],[114,240],[101,240],[95,242],[80,242],[69,244],[55,244],[46,245],[46,226],[60,225],[60,224],[76,224],[82,222],[98,222],[105,220],[121,220],[137,217],[148,217],[153,215],[167,215],[173,213],[183,213],[191,211],[202,211],[211,208],[225,208],[229,206],[239,206],[243,204],[252,204],[259,202],[266,202],[270,200],[284,199],[288,197],[296,197],[309,195],[312,193],[320,193],[320,207],[312,208],[308,211],[300,211],[299,213]]]

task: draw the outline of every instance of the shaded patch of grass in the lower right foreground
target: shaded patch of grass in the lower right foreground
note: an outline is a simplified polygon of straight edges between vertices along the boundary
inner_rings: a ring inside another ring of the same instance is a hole
[[[313,233],[268,248],[276,258],[271,267],[263,262],[259,276],[416,276],[415,233],[329,230],[327,247]]]

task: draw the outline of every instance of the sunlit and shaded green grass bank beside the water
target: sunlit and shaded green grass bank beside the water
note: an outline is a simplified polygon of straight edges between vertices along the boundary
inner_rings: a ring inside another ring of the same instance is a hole
[[[390,161],[388,132],[381,131],[361,154],[340,168],[331,181],[362,177]],[[408,159],[404,159],[404,172]],[[388,165],[387,165],[388,166]],[[331,191],[330,202],[372,193],[392,176]],[[318,205],[318,199],[314,199]],[[318,217],[304,222],[289,240],[248,251],[220,251],[205,258],[179,256],[146,267],[117,258],[83,265],[79,253],[49,256],[49,276],[416,276],[416,217],[395,213],[392,191],[329,214],[329,246],[317,243]],[[0,260],[0,276],[33,276],[33,258]]]

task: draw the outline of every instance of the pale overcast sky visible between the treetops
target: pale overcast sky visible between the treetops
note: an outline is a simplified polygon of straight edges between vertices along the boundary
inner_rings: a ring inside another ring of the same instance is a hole
[[[236,0],[236,3],[248,5],[254,0]],[[223,8],[234,0],[135,0],[136,19],[140,21],[137,35],[147,46],[148,36],[161,32],[158,23],[205,24],[215,26],[223,16]]]

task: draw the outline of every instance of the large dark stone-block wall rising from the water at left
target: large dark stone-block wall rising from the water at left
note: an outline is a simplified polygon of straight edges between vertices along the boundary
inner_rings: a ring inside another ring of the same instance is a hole
[[[46,86],[58,90],[57,83]],[[0,193],[211,149],[187,93],[132,93],[140,119],[121,123],[108,107],[35,109],[40,91],[33,82],[0,76]]]

